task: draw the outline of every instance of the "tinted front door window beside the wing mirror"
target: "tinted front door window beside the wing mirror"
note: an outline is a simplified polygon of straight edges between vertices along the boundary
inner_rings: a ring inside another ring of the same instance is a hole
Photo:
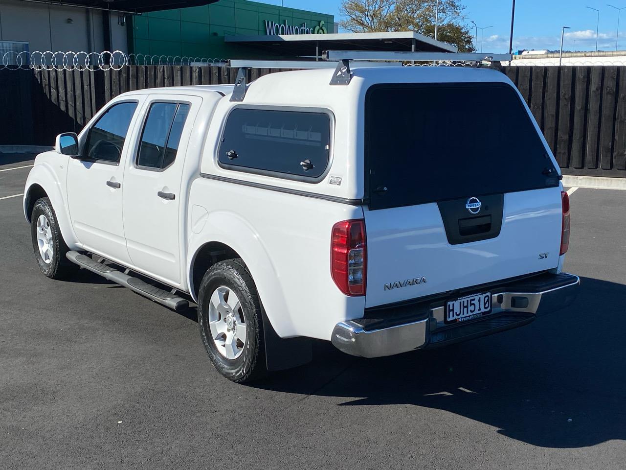
[[[119,162],[136,107],[137,103],[119,103],[110,107],[91,128],[85,156],[93,160]]]

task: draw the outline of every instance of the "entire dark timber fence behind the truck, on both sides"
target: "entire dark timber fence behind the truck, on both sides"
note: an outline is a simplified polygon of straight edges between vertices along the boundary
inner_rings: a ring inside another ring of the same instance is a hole
[[[248,80],[276,71],[250,70]],[[80,132],[125,91],[233,83],[237,72],[188,65],[0,70],[0,145],[52,145],[58,133]],[[528,103],[564,174],[626,177],[626,66],[505,67],[504,73]]]

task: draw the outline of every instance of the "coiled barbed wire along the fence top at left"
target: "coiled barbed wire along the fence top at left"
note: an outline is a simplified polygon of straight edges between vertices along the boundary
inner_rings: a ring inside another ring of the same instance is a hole
[[[122,51],[8,51],[0,70],[120,70],[127,65],[224,66],[225,59],[192,56],[126,54]]]

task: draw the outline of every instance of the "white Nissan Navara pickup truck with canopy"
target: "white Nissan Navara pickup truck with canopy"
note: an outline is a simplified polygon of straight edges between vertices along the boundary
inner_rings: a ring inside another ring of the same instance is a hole
[[[39,268],[197,303],[210,360],[237,382],[307,362],[311,338],[380,357],[567,306],[568,196],[513,83],[345,72],[111,100],[35,160]]]

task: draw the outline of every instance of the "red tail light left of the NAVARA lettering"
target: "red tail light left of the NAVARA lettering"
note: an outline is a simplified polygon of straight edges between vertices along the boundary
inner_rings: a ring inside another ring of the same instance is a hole
[[[367,243],[365,221],[337,222],[331,234],[332,280],[346,295],[365,295]]]

